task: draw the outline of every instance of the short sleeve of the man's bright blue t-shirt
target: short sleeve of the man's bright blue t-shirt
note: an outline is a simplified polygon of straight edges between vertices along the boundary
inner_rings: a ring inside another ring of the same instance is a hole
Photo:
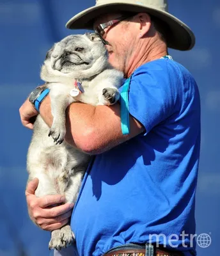
[[[131,78],[129,112],[143,124],[145,134],[180,108],[177,79],[172,77],[166,68],[147,68]]]

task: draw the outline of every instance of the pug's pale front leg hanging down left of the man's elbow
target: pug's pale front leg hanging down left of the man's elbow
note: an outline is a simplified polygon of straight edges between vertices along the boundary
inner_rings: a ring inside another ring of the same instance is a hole
[[[51,112],[54,117],[49,136],[52,136],[54,143],[61,144],[66,134],[66,109],[74,102],[74,98],[65,92],[63,84],[51,86]]]

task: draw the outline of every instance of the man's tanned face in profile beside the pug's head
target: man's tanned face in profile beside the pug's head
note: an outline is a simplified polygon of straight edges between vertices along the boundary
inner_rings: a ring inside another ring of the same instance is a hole
[[[94,23],[94,28],[98,25],[122,17],[121,13],[112,13],[98,18]],[[105,33],[102,36],[109,45],[106,45],[109,52],[109,63],[116,69],[125,72],[129,56],[132,54],[134,47],[134,36],[130,22],[121,21],[104,29]]]

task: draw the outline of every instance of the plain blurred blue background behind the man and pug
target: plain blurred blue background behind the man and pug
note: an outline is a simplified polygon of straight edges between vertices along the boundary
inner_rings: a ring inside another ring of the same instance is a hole
[[[40,65],[52,44],[71,33],[70,17],[93,0],[0,0],[0,256],[49,255],[49,232],[29,220],[24,190],[31,131],[20,124],[19,108],[40,81]],[[196,35],[192,51],[169,51],[196,78],[201,94],[201,158],[196,195],[196,234],[212,238],[199,256],[217,252],[219,236],[219,0],[169,0],[169,12]],[[172,186],[172,184],[171,184]]]

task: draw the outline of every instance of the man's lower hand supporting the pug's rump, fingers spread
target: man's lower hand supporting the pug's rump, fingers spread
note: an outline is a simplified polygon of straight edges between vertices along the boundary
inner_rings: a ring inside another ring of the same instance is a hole
[[[69,221],[74,204],[63,204],[66,199],[61,195],[36,197],[35,190],[38,182],[38,179],[33,179],[26,188],[26,200],[31,220],[47,231],[63,227]],[[62,205],[52,207],[51,205],[54,204]]]

